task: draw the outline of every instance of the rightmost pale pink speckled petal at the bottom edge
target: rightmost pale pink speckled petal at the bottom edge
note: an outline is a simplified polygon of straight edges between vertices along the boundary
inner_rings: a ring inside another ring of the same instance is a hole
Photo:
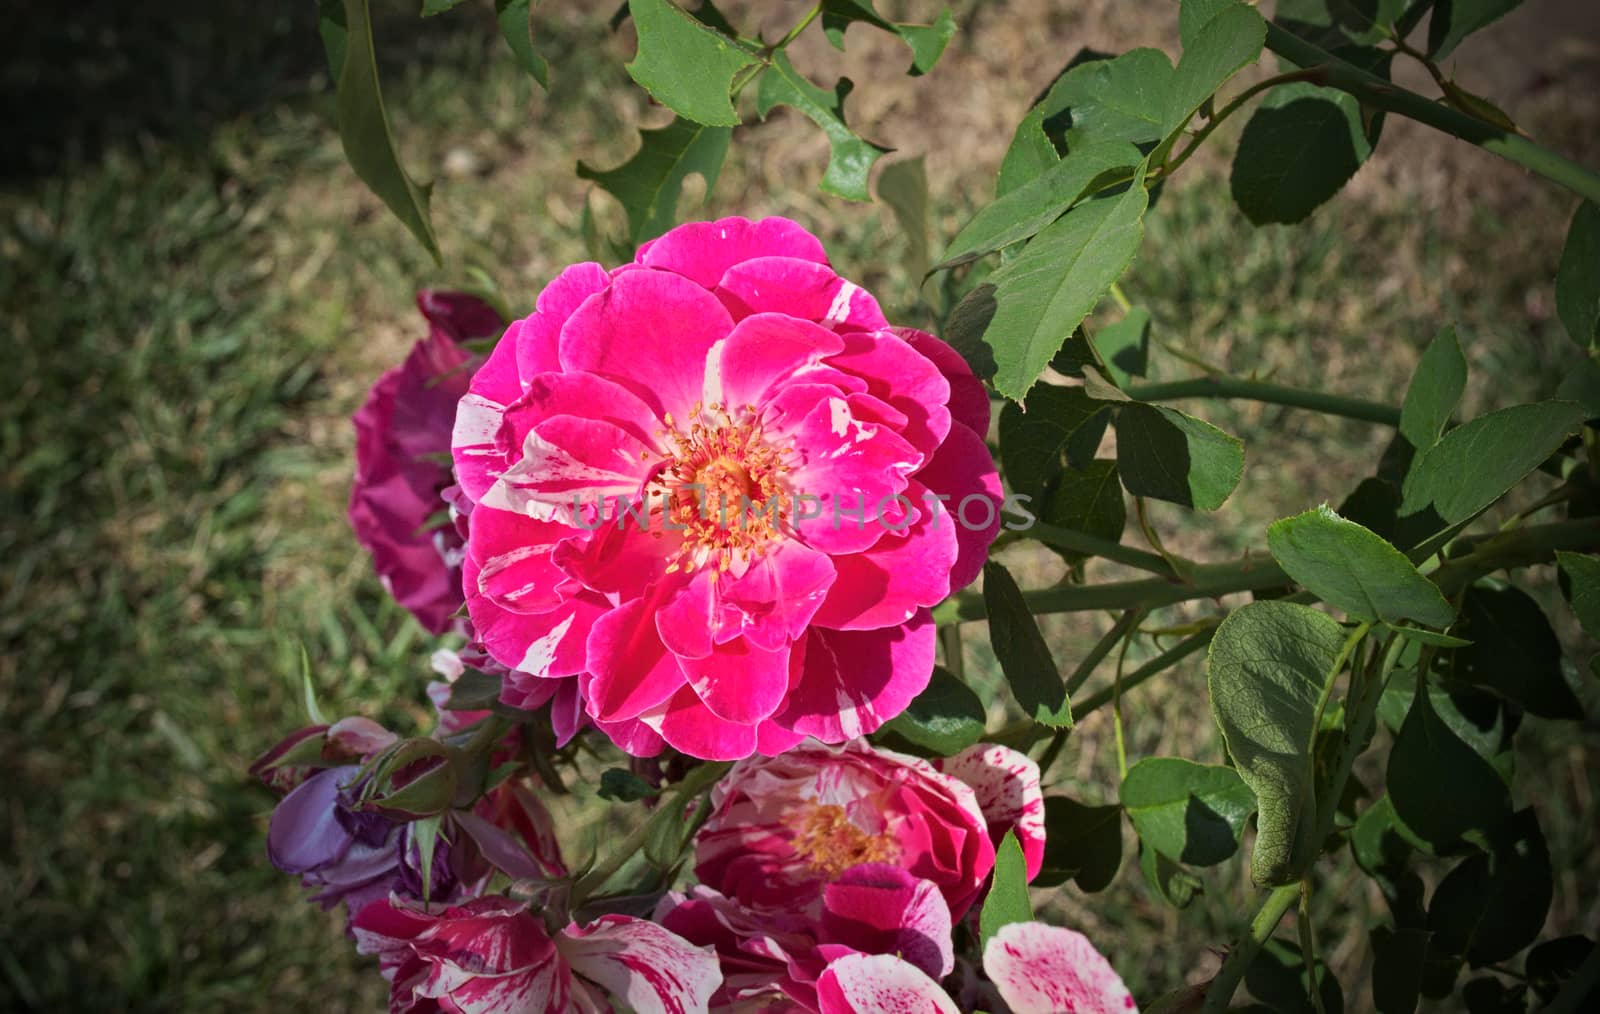
[[[1110,961],[1082,932],[1061,926],[1002,926],[984,947],[984,972],[1013,1014],[1138,1014]]]

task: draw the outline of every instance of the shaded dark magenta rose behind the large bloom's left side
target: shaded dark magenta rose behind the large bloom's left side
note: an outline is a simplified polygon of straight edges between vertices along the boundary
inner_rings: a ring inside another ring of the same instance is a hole
[[[461,537],[440,523],[450,430],[477,358],[461,342],[494,336],[499,313],[464,293],[421,291],[427,337],[373,385],[355,413],[350,526],[384,587],[432,633],[461,608]]]

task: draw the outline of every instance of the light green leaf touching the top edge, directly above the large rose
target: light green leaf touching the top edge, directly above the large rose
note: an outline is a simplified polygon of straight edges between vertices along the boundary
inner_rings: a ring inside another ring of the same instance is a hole
[[[638,54],[627,72],[658,102],[707,126],[738,126],[733,78],[760,61],[669,0],[627,0]]]

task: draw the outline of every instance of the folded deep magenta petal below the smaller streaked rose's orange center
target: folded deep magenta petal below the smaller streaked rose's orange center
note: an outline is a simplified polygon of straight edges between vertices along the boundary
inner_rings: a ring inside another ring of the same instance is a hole
[[[822,931],[830,944],[899,955],[934,979],[955,969],[950,907],[939,886],[899,867],[864,864],[827,884]]]

